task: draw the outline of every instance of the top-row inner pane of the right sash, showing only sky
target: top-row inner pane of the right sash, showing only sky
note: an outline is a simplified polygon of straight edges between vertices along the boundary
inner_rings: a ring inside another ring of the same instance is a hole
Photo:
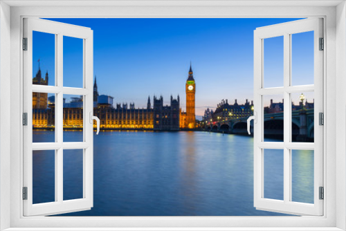
[[[264,87],[284,86],[284,37],[264,39]]]

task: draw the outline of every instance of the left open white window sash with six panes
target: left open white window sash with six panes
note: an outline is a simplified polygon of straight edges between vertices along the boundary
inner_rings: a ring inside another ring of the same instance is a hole
[[[33,84],[33,31],[55,35],[55,86]],[[83,39],[83,88],[63,86],[63,37]],[[24,51],[24,112],[28,126],[24,127],[24,187],[28,199],[23,201],[24,216],[61,214],[89,210],[93,206],[93,127],[89,122],[93,111],[93,31],[44,19],[24,19],[24,37],[28,50]],[[33,92],[55,93],[55,142],[33,143]],[[83,142],[63,142],[63,96],[83,95]],[[83,149],[83,198],[63,200],[64,149]],[[33,204],[33,151],[55,150],[55,201]]]

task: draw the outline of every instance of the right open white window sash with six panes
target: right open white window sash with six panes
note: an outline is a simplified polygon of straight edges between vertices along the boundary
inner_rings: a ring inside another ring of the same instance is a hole
[[[314,31],[314,84],[291,86],[291,35]],[[264,88],[264,39],[284,37],[284,86]],[[323,112],[323,52],[318,50],[322,34],[322,19],[302,19],[284,24],[257,28],[254,33],[254,111],[257,123],[254,123],[254,205],[259,210],[282,212],[287,214],[318,215],[323,214],[323,201],[319,199],[319,187],[323,186],[323,127],[318,124],[318,113]],[[314,142],[291,142],[291,93],[314,92]],[[284,96],[284,142],[264,142],[264,95],[282,94]],[[284,150],[284,200],[264,198],[264,149]],[[291,150],[304,149],[314,151],[314,203],[291,201]]]

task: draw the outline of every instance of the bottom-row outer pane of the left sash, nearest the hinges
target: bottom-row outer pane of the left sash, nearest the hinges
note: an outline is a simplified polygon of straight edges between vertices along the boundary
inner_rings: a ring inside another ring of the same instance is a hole
[[[55,150],[33,151],[33,204],[55,201]]]

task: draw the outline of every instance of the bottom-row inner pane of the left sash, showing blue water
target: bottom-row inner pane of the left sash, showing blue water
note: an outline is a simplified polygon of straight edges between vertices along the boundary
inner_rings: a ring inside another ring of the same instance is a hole
[[[64,149],[64,201],[83,198],[83,149]]]

